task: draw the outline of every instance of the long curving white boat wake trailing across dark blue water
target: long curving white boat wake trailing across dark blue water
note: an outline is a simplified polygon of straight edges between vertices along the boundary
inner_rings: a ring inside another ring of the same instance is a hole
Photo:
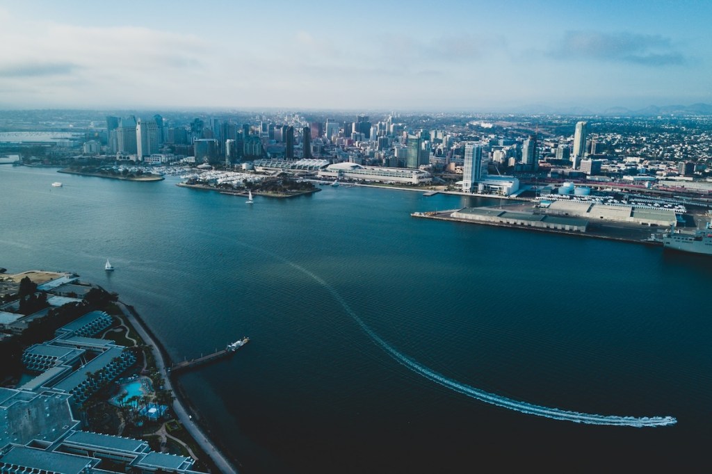
[[[264,250],[263,250],[264,251]],[[271,252],[268,252],[271,253]],[[449,379],[443,374],[439,374],[428,367],[416,362],[405,354],[402,354],[397,349],[395,349],[391,344],[388,344],[384,339],[379,337],[373,330],[366,325],[365,322],[349,307],[347,302],[341,297],[341,295],[328,283],[322,280],[318,275],[310,272],[306,268],[297,265],[296,263],[290,262],[285,258],[277,256],[271,253],[275,258],[282,260],[291,267],[299,270],[301,273],[308,275],[313,278],[317,283],[326,288],[329,293],[334,297],[337,302],[344,308],[347,314],[354,320],[357,325],[372,339],[378,347],[383,349],[390,357],[395,359],[397,362],[407,367],[412,372],[424,376],[426,379],[434,381],[436,384],[440,384],[448,389],[456,391],[460,394],[469,396],[472,399],[478,401],[483,401],[488,404],[501,406],[506,409],[518,411],[523,414],[543,416],[544,418],[550,418],[553,420],[560,421],[572,421],[574,423],[586,423],[591,425],[608,425],[608,426],[633,426],[635,428],[643,428],[648,426],[669,426],[677,423],[677,419],[674,416],[616,416],[616,415],[597,415],[597,414],[587,414],[580,411],[567,411],[557,408],[550,408],[547,406],[530,404],[526,401],[518,401],[510,399],[506,396],[501,396],[497,394],[491,394],[488,391],[477,389],[473,386],[462,384],[459,381]]]

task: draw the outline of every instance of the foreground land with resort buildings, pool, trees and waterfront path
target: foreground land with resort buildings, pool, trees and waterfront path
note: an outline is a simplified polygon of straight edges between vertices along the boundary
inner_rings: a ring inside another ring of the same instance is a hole
[[[75,273],[29,270],[0,273],[0,295],[0,464],[237,472],[159,339],[117,294]],[[214,363],[248,340],[228,342]]]

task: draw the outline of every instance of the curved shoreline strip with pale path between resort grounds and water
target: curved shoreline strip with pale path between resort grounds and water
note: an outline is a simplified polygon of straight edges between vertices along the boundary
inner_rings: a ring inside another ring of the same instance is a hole
[[[209,427],[204,426],[204,423],[200,422],[201,416],[199,416],[197,410],[195,410],[194,406],[190,403],[190,400],[185,394],[180,382],[174,379],[170,372],[167,372],[166,368],[171,365],[172,362],[169,354],[159,342],[159,339],[155,337],[153,332],[141,319],[140,315],[136,312],[133,306],[127,305],[120,300],[117,301],[117,305],[122,311],[124,317],[126,317],[126,322],[136,330],[138,335],[140,335],[144,342],[151,348],[156,360],[156,368],[163,376],[167,388],[175,395],[172,406],[173,411],[186,431],[190,433],[194,441],[202,448],[206,455],[211,458],[213,463],[222,473],[238,474],[239,471],[233,463],[236,461],[229,460],[219,449],[219,444],[211,441],[211,431]],[[189,415],[189,412],[196,414],[196,416]]]

